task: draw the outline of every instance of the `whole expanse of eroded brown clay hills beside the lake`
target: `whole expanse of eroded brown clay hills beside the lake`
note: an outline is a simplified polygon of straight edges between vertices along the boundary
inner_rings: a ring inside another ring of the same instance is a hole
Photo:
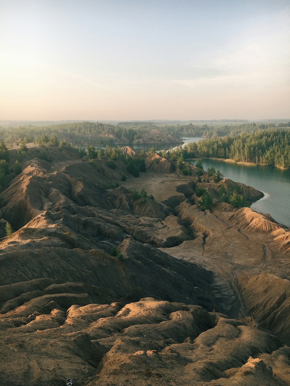
[[[54,153],[0,195],[1,384],[290,385],[289,229],[202,211],[197,178],[156,156],[107,189],[122,161]],[[155,199],[132,202],[142,186]]]

